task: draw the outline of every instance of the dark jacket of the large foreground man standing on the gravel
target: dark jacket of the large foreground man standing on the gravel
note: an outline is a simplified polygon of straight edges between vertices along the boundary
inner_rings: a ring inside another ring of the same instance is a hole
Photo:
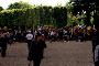
[[[31,44],[28,59],[29,61],[42,59],[45,47],[46,47],[45,41],[42,40],[33,41]]]

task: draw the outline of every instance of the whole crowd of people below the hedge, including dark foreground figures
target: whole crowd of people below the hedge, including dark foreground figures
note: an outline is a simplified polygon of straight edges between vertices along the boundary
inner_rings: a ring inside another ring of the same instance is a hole
[[[1,52],[1,56],[6,57],[8,44],[11,45],[14,42],[26,42],[28,50],[29,50],[28,59],[29,61],[33,59],[35,63],[34,66],[40,66],[38,64],[43,58],[43,51],[46,47],[45,41],[50,41],[51,43],[55,41],[57,42],[92,41],[94,61],[96,62],[96,58],[95,58],[97,54],[96,50],[98,51],[98,47],[96,46],[97,44],[99,44],[97,31],[98,30],[95,26],[86,26],[86,25],[65,26],[61,29],[41,26],[38,29],[34,29],[34,30],[28,29],[25,31],[15,30],[15,29],[14,30],[0,29],[0,52]],[[36,53],[33,54],[35,51]]]

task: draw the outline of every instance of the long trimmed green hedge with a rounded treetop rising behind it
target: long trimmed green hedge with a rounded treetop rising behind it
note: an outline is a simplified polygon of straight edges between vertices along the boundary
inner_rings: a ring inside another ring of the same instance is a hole
[[[53,25],[57,28],[67,24],[67,9],[65,7],[33,7],[25,2],[15,2],[0,12],[0,26],[35,28],[37,25]]]

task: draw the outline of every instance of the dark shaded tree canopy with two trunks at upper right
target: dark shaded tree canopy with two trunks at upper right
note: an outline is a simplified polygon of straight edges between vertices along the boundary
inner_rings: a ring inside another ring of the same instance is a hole
[[[74,3],[73,13],[76,15],[78,12],[84,13],[82,11],[86,11],[86,25],[91,25],[90,18],[91,12],[94,12],[94,24],[99,26],[99,1],[98,0],[70,0],[72,3]]]

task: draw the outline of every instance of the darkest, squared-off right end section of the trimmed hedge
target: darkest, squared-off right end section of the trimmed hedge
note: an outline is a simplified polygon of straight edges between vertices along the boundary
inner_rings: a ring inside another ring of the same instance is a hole
[[[57,28],[67,25],[67,9],[65,7],[54,8],[54,19],[56,20]]]

